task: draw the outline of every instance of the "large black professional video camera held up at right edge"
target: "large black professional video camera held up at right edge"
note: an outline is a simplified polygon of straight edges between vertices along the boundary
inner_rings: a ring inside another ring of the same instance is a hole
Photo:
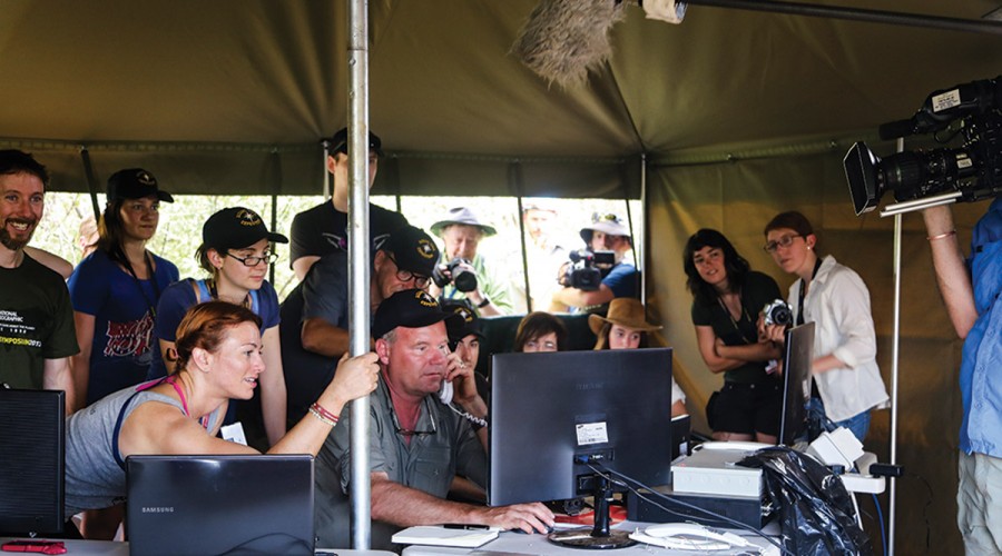
[[[956,120],[957,130],[939,137]],[[1002,76],[934,91],[915,116],[884,123],[880,133],[882,139],[934,133],[940,143],[962,133],[964,143],[957,149],[898,152],[883,159],[865,142],[853,145],[844,162],[857,216],[876,208],[888,189],[898,202],[943,193],[926,203],[908,203],[908,210],[978,201],[1002,192]]]

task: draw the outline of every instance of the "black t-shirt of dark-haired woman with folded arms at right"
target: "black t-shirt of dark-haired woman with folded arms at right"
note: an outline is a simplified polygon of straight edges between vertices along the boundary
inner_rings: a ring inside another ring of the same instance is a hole
[[[741,318],[734,321],[719,302],[700,305],[692,301],[692,324],[713,327],[714,334],[727,346],[749,345],[758,341],[758,314],[766,304],[782,299],[776,280],[754,270],[745,276],[741,287]],[[737,325],[737,326],[735,326]],[[762,383],[768,379],[766,363],[747,363],[724,374],[724,379],[734,383]]]

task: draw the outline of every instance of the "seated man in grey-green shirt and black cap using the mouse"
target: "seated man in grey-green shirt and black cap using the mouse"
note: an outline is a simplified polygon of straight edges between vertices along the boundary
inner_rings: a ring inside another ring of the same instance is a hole
[[[394,294],[372,326],[380,358],[380,385],[370,398],[373,548],[386,548],[395,530],[412,525],[479,524],[543,532],[553,514],[541,504],[478,506],[445,499],[462,475],[480,485],[487,471],[487,405],[473,385],[473,369],[449,353],[445,320],[423,290]],[[451,408],[439,395],[454,385]],[[316,458],[316,523],[322,546],[347,546],[351,449],[343,417]]]

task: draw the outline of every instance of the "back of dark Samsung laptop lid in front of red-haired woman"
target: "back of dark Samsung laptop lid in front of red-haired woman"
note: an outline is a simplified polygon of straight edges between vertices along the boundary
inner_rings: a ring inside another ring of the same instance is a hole
[[[130,456],[129,552],[312,555],[313,457]]]

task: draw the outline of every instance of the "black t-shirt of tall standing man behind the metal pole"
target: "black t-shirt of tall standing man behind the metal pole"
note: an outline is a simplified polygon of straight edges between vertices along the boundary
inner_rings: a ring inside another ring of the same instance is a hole
[[[407,225],[400,212],[369,203],[369,234],[373,252],[397,229]],[[347,214],[334,208],[330,200],[304,210],[293,218],[289,234],[289,266],[299,257],[344,251],[347,252]]]

